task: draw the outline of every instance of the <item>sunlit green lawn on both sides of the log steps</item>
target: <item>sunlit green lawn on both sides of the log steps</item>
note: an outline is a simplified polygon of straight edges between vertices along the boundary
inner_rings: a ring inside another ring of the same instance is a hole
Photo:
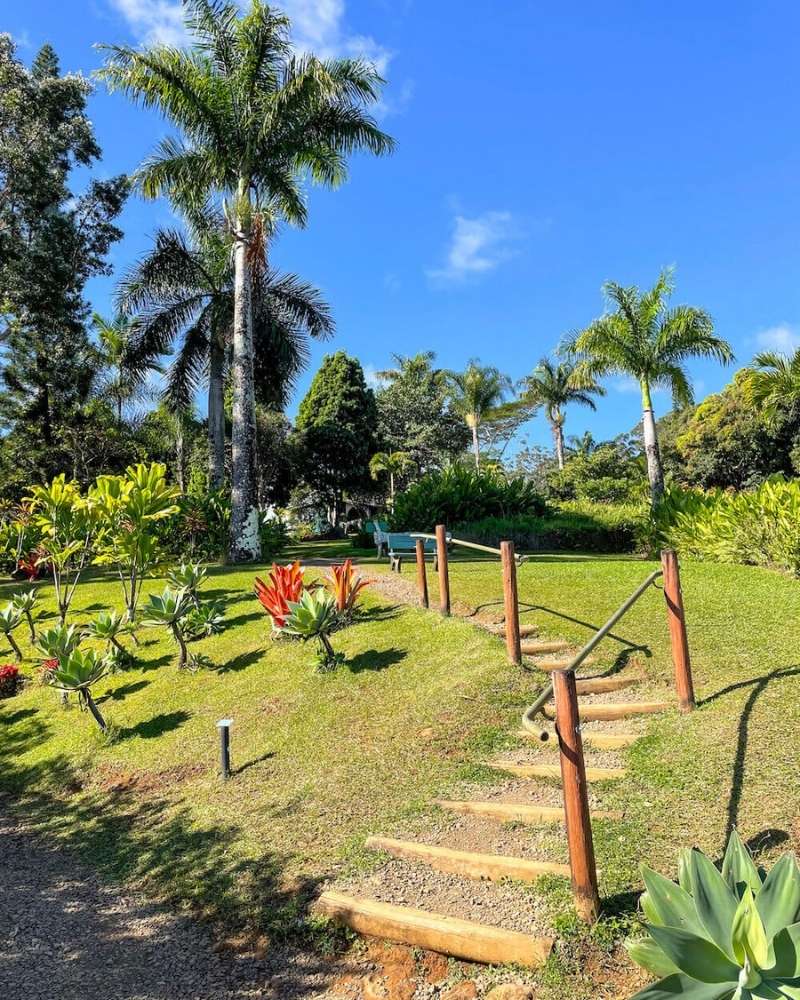
[[[350,551],[321,543],[287,558]],[[523,620],[585,640],[653,566],[537,556],[519,570]],[[469,622],[375,595],[364,620],[335,636],[348,667],[315,674],[311,649],[269,641],[250,596],[253,575],[220,569],[207,585],[228,602],[228,631],[200,644],[218,672],[178,674],[174,648],[142,631],[141,666],[98,688],[114,741],[36,684],[3,702],[0,787],[111,876],[145,880],[212,919],[286,929],[303,890],[368,863],[364,834],[422,823],[430,797],[480,776],[476,765],[518,728],[540,680],[509,667],[502,644]],[[719,856],[731,825],[765,861],[797,846],[800,585],[700,563],[684,565],[683,584],[699,707],[653,720],[628,754],[628,777],[604,797],[626,814],[596,828],[609,913],[633,912],[639,863],[671,871],[688,844]],[[498,563],[459,555],[451,590],[455,600],[499,610]],[[94,578],[79,589],[75,620],[109,604],[119,606],[116,584]],[[652,685],[669,680],[658,590],[615,636],[609,661],[630,644],[643,647],[637,655]],[[216,774],[214,723],[223,716],[234,719],[237,773],[228,784]],[[616,926],[608,924],[604,947]]]

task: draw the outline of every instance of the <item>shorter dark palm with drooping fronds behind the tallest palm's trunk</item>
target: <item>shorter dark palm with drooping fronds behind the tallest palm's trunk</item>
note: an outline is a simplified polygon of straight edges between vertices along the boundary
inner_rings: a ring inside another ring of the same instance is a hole
[[[159,230],[149,254],[122,278],[121,309],[137,315],[127,363],[134,371],[171,354],[165,395],[176,411],[191,406],[208,382],[209,484],[225,481],[224,386],[233,330],[232,240],[213,213],[187,218],[188,238]],[[317,289],[293,274],[279,274],[264,258],[253,262],[254,392],[264,405],[282,408],[305,368],[306,334],[325,339],[334,330]]]

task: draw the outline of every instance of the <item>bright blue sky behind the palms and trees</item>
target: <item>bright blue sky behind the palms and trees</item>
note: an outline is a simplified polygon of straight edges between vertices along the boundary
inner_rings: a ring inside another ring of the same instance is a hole
[[[677,268],[676,300],[707,308],[739,363],[800,344],[800,7],[706,0],[286,0],[300,47],[366,53],[385,70],[390,159],[358,158],[336,192],[312,189],[310,224],[275,262],[317,284],[343,348],[368,372],[433,349],[514,378],[602,312],[604,280]],[[44,41],[89,73],[96,42],[180,37],[171,0],[3,3],[0,30],[29,59]],[[102,91],[91,114],[103,174],[132,170],[167,127]],[[164,204],[133,199],[124,269]],[[112,282],[95,281],[108,308]],[[312,372],[303,380],[304,389]],[[693,368],[698,396],[730,372]],[[632,388],[634,391],[631,391]],[[668,408],[666,397],[657,400]],[[635,387],[612,380],[568,433],[633,426]],[[542,418],[529,429],[547,443]]]

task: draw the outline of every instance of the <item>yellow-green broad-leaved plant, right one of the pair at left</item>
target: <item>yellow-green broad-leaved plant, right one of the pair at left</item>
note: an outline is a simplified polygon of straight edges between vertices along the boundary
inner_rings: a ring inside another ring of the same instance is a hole
[[[158,522],[177,512],[179,493],[158,462],[129,466],[123,476],[98,476],[89,491],[102,517],[94,561],[116,567],[130,624],[145,578],[164,564]]]

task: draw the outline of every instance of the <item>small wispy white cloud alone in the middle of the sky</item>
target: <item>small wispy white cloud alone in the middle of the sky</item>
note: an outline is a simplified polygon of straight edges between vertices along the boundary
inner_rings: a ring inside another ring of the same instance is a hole
[[[514,255],[518,237],[510,212],[484,212],[472,219],[456,215],[444,267],[429,270],[434,281],[458,282],[496,267]]]

